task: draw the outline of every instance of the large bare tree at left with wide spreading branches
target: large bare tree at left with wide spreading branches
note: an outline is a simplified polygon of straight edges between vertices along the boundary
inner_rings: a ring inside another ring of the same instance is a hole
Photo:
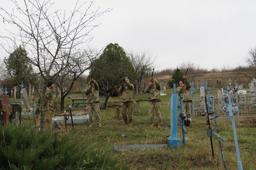
[[[56,10],[51,0],[23,0],[23,4],[15,0],[10,2],[14,9],[8,11],[1,7],[3,13],[0,15],[4,23],[18,29],[9,30],[9,35],[1,37],[9,48],[17,48],[21,44],[28,51],[26,59],[44,79],[40,103],[43,106],[49,80],[56,80],[67,72],[77,77],[90,67],[95,55],[81,55],[82,47],[93,38],[90,32],[98,26],[94,20],[110,9],[94,9],[94,1],[80,4],[77,0],[72,11]],[[90,53],[88,49],[87,54]],[[41,125],[43,116],[44,109],[41,109]]]

